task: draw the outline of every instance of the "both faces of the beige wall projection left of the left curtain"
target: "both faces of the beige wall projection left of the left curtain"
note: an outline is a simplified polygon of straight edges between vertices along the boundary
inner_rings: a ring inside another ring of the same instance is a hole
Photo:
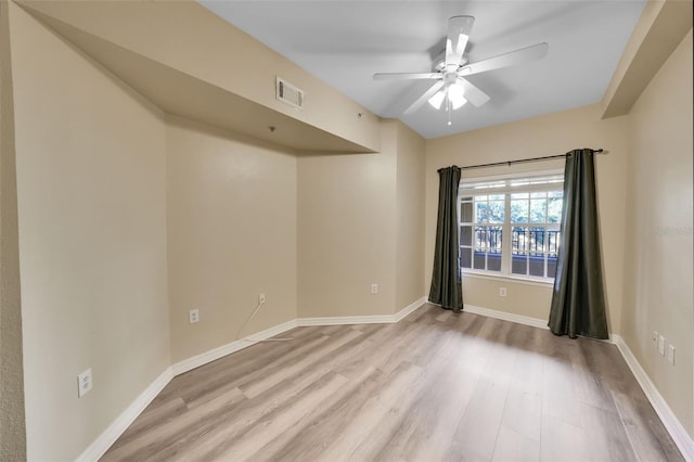
[[[301,318],[393,315],[424,296],[425,140],[384,120],[381,146],[299,158]]]

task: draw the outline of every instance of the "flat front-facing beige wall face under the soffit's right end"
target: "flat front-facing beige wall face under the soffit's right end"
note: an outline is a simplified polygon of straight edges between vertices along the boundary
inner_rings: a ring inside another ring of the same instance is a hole
[[[397,131],[377,154],[298,159],[299,317],[395,312]]]

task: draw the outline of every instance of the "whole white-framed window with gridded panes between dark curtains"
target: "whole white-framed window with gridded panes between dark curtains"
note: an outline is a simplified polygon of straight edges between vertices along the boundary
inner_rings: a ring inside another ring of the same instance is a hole
[[[563,189],[561,172],[462,180],[458,198],[463,272],[553,279]]]

